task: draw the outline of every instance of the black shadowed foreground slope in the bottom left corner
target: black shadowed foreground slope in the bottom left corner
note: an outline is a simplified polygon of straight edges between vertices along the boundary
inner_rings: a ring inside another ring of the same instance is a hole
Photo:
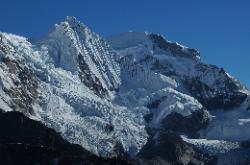
[[[103,159],[20,112],[0,110],[0,164],[129,164],[119,158]]]

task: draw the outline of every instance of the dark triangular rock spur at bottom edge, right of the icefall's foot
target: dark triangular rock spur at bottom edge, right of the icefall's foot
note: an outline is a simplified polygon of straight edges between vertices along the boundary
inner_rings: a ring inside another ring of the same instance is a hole
[[[184,142],[173,131],[148,129],[149,142],[136,160],[140,165],[213,165],[216,158],[203,154]]]

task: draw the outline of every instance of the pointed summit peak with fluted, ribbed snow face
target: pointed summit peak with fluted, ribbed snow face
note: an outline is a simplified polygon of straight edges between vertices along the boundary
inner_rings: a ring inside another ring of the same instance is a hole
[[[120,84],[119,66],[114,60],[114,52],[97,34],[92,33],[74,17],[55,25],[48,37],[41,41],[47,45],[48,53],[56,67],[72,73],[82,72],[85,85],[93,87],[85,79],[93,79],[104,90],[115,89]]]

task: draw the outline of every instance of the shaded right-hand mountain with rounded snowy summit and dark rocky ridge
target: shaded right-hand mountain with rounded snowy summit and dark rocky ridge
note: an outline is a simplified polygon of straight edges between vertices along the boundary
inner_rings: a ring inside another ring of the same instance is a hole
[[[126,32],[107,40],[120,55],[121,89],[136,96],[126,94],[126,102],[147,105],[149,127],[182,132],[183,140],[219,155],[219,164],[238,164],[225,157],[250,137],[246,87],[223,68],[203,63],[197,50],[161,35]],[[249,159],[249,152],[243,155]]]

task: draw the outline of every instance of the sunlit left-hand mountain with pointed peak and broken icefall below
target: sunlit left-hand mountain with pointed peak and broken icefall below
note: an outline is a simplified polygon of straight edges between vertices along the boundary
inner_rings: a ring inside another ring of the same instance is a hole
[[[85,25],[68,17],[34,43],[1,36],[0,108],[22,111],[104,157],[117,146],[133,156],[146,143],[142,116],[110,102],[120,84],[115,53]]]

